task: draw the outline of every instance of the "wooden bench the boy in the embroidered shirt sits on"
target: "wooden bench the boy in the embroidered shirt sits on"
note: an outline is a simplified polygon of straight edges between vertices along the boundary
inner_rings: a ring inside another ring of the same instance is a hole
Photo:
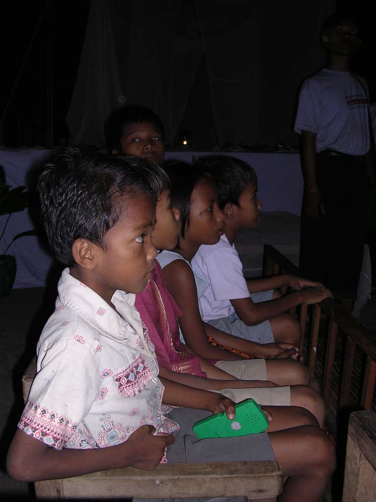
[[[26,402],[36,375],[36,359],[26,369]],[[273,502],[282,491],[276,461],[160,464],[153,471],[127,467],[65,479],[36,481],[37,499],[126,499],[241,496]]]

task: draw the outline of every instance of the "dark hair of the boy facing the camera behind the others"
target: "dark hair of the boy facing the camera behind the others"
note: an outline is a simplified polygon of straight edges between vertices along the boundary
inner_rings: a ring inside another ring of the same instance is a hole
[[[104,124],[107,152],[110,155],[113,150],[118,150],[120,152],[120,140],[124,134],[124,126],[136,122],[153,123],[164,138],[162,121],[153,110],[138,104],[125,104],[121,108],[116,108],[116,110],[107,117]]]

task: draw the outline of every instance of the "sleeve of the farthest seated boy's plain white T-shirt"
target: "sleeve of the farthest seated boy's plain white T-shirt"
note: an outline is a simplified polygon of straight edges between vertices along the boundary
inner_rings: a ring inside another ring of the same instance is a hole
[[[222,247],[205,262],[208,278],[216,301],[248,298],[243,265],[234,247]]]

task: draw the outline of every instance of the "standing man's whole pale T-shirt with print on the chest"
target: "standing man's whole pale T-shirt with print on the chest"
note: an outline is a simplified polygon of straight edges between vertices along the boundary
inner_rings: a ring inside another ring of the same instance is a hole
[[[323,68],[307,78],[299,94],[294,131],[317,134],[316,150],[364,155],[369,150],[367,89],[350,72]]]

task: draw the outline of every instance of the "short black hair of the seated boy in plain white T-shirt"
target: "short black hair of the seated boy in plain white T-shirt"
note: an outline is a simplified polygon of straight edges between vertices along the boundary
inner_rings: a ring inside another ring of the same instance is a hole
[[[216,184],[217,204],[223,209],[228,202],[239,207],[239,199],[248,183],[257,185],[253,168],[236,157],[209,155],[200,157],[195,167],[207,173]]]

